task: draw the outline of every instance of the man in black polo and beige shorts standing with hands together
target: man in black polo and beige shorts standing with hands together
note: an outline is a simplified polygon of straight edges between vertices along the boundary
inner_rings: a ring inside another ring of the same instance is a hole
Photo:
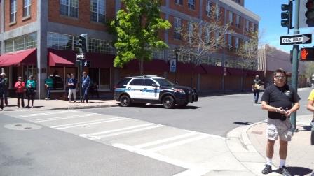
[[[274,84],[268,86],[261,97],[261,108],[268,110],[266,165],[261,171],[263,174],[271,173],[271,160],[273,158],[273,145],[279,137],[279,173],[290,175],[285,167],[288,141],[291,140],[293,129],[290,122],[292,112],[299,110],[300,97],[292,87],[286,84],[286,73],[281,68],[273,73]],[[293,104],[293,106],[292,106]]]

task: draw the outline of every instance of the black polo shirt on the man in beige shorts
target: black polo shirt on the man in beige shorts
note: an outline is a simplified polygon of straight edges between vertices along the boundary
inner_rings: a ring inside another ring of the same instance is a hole
[[[301,98],[296,93],[296,91],[289,85],[284,85],[283,87],[277,87],[275,85],[268,86],[263,96],[261,96],[261,101],[266,101],[268,105],[275,108],[280,108],[289,110],[292,108],[292,103],[299,102]],[[268,111],[268,118],[270,119],[281,119],[282,115],[279,112]]]

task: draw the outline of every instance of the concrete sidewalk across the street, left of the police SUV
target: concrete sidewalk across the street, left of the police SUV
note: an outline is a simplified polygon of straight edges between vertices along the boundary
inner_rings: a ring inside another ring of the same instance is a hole
[[[24,100],[25,107],[27,106],[27,99]],[[30,102],[31,104],[31,102]],[[89,100],[88,103],[80,103],[79,101],[63,101],[63,100],[34,100],[34,108],[18,108],[17,98],[8,98],[8,106],[4,107],[4,111],[13,110],[70,110],[70,109],[87,109],[87,108],[106,108],[118,106],[115,100]],[[1,111],[0,111],[1,112]]]

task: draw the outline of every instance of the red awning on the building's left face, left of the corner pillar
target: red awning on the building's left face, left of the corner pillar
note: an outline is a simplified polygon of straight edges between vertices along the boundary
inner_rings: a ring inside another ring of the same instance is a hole
[[[36,48],[2,54],[0,66],[36,65]]]

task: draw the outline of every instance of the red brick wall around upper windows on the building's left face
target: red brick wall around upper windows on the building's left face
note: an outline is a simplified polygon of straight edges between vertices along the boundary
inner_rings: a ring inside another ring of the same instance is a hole
[[[4,1],[4,31],[10,31],[18,27],[24,26],[26,24],[36,22],[37,17],[37,1],[32,0],[31,13],[29,18],[23,19],[23,1],[16,1],[17,3],[17,13],[16,13],[16,23],[10,24],[10,1]]]

